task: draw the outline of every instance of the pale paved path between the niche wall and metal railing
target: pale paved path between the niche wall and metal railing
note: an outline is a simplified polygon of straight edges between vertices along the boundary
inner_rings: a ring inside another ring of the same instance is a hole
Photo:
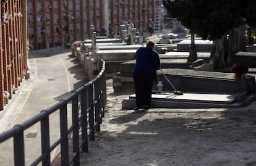
[[[29,54],[30,79],[23,81],[19,92],[6,109],[0,112],[0,133],[25,122],[41,110],[56,104],[72,90],[86,83],[87,75],[70,49],[56,48],[31,51]],[[50,117],[51,143],[59,138],[59,114]],[[26,165],[40,153],[40,124],[25,130]],[[35,144],[37,144],[35,146]],[[0,144],[0,165],[13,165],[12,143]],[[6,149],[6,150],[4,150]],[[52,157],[57,154],[53,152]]]

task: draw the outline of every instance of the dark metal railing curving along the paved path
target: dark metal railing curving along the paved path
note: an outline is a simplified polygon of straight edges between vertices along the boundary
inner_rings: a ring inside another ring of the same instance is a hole
[[[41,110],[40,114],[27,121],[15,125],[10,130],[1,133],[0,143],[13,138],[14,165],[25,165],[24,131],[40,122],[41,127],[41,156],[31,165],[51,165],[51,152],[57,146],[61,146],[61,165],[80,165],[80,150],[88,151],[88,139],[95,140],[95,131],[100,131],[102,117],[106,104],[106,72],[105,62],[100,60],[102,66],[100,73],[91,81],[57,104],[48,109]],[[71,104],[72,125],[68,128],[67,112],[68,104]],[[49,116],[59,110],[60,138],[50,144]],[[72,134],[73,152],[69,154],[69,135]],[[38,143],[39,144],[39,143]]]

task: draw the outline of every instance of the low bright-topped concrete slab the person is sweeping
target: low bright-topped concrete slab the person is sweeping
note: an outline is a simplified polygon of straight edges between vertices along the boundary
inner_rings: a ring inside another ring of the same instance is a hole
[[[246,106],[249,102],[255,100],[255,93],[246,96],[244,101],[236,101],[235,96],[236,94],[206,93],[152,94],[151,107],[177,109],[228,108]],[[133,109],[135,103],[135,94],[132,94],[122,101],[122,109]]]

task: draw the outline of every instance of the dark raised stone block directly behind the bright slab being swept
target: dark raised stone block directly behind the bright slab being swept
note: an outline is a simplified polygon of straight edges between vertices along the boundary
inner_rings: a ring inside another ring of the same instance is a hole
[[[235,80],[234,73],[205,72],[180,68],[163,69],[163,73],[179,91],[218,94],[255,92],[255,78],[250,75],[247,75],[247,78]],[[164,81],[163,90],[173,90],[160,71],[158,71],[157,78]]]

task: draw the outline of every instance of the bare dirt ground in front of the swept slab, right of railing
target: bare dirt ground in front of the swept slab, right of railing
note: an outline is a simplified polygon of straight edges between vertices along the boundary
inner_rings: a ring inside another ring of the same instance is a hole
[[[81,165],[256,165],[256,102],[236,109],[122,110],[113,93]],[[130,92],[132,94],[133,92]]]

